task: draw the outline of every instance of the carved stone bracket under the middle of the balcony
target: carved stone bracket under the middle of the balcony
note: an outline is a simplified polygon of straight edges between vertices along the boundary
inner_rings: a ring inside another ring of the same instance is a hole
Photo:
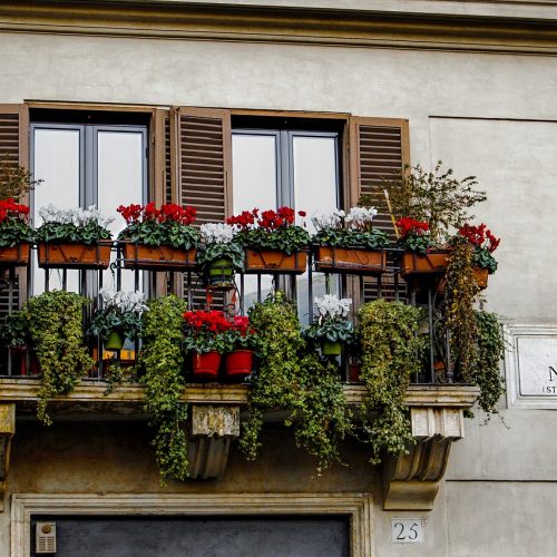
[[[219,478],[231,441],[240,436],[240,405],[192,405],[188,448],[190,478]]]

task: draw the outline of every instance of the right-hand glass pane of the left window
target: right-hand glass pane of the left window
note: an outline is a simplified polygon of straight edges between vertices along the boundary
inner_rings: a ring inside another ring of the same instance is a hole
[[[116,212],[119,205],[144,202],[144,135],[140,131],[98,131],[97,134],[97,186],[98,206],[104,215],[114,217],[110,224],[113,237],[125,227],[125,221]],[[115,254],[113,254],[113,260]],[[102,273],[102,285],[116,290],[111,271]],[[139,283],[141,289],[141,281]],[[121,290],[135,290],[135,273],[121,272]]]

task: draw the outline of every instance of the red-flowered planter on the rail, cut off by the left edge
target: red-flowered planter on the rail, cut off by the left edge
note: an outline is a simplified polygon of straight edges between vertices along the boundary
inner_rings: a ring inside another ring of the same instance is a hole
[[[0,201],[0,265],[28,264],[33,240],[28,215],[29,207],[16,203],[12,197]]]

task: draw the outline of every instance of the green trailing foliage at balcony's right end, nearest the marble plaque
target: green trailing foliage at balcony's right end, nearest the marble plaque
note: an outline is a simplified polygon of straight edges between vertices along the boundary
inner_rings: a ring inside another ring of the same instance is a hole
[[[480,388],[479,407],[488,414],[497,413],[497,402],[505,393],[505,379],[500,372],[505,342],[495,313],[475,312],[478,330],[478,354],[469,381]]]

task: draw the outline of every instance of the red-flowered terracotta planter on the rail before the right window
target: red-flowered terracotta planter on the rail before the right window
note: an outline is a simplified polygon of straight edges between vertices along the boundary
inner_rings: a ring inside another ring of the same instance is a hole
[[[305,216],[304,211],[299,212]],[[307,231],[294,224],[291,207],[244,211],[226,222],[238,227],[238,242],[244,246],[246,273],[302,274],[307,266]]]

